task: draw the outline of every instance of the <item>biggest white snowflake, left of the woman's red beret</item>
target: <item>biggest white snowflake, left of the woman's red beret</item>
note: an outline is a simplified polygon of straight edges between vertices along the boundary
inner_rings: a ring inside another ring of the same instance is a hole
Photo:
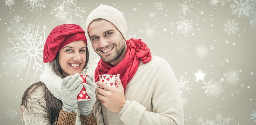
[[[9,38],[8,41],[11,42],[14,47],[13,48],[7,48],[7,52],[14,53],[13,56],[8,57],[6,59],[10,58],[17,58],[20,56],[25,57],[23,59],[18,59],[16,62],[13,62],[10,64],[10,66],[18,65],[20,66],[19,74],[22,74],[22,67],[24,65],[27,67],[27,76],[30,70],[30,67],[35,70],[33,77],[37,77],[38,70],[42,71],[42,55],[43,55],[43,48],[44,43],[47,38],[45,36],[45,33],[47,32],[47,29],[45,26],[43,26],[43,31],[39,31],[39,24],[36,27],[36,30],[34,30],[34,26],[29,24],[28,28],[25,28],[24,26],[19,27],[19,33],[14,33],[15,38],[14,42],[12,38]]]

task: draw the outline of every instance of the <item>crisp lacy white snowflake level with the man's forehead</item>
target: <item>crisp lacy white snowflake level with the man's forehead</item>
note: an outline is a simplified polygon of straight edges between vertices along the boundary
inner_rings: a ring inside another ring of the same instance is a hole
[[[154,25],[149,25],[148,22],[145,22],[145,24],[143,24],[145,27],[143,27],[143,29],[140,30],[141,34],[144,35],[143,39],[148,39],[148,38],[152,38],[155,35],[159,35],[159,31],[156,31],[155,28],[157,28],[158,24],[154,24]]]

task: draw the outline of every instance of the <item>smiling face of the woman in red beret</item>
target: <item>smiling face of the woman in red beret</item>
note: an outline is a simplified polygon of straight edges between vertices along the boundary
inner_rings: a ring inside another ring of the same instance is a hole
[[[59,65],[64,77],[81,73],[86,61],[86,43],[73,41],[59,51]]]

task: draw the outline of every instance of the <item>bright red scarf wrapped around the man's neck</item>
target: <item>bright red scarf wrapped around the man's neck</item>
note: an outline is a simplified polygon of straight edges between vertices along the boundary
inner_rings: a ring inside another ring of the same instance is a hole
[[[127,84],[130,82],[136,73],[140,61],[143,64],[148,63],[151,60],[151,53],[148,46],[141,41],[141,39],[130,39],[126,41],[127,50],[123,60],[116,66],[111,66],[109,63],[100,59],[97,68],[95,69],[95,81],[99,81],[101,74],[120,74],[120,79],[124,91]]]

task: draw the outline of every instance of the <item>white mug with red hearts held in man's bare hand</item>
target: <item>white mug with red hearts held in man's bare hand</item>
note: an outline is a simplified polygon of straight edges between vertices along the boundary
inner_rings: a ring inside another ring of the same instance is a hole
[[[104,75],[99,75],[99,76],[100,76],[100,82],[108,84],[114,88],[117,88],[118,85],[121,83],[120,78],[117,77],[116,75],[104,74]],[[118,79],[118,83],[116,83],[116,81],[115,81],[116,79]],[[101,86],[100,86],[100,89],[107,91],[106,89],[102,88]]]

